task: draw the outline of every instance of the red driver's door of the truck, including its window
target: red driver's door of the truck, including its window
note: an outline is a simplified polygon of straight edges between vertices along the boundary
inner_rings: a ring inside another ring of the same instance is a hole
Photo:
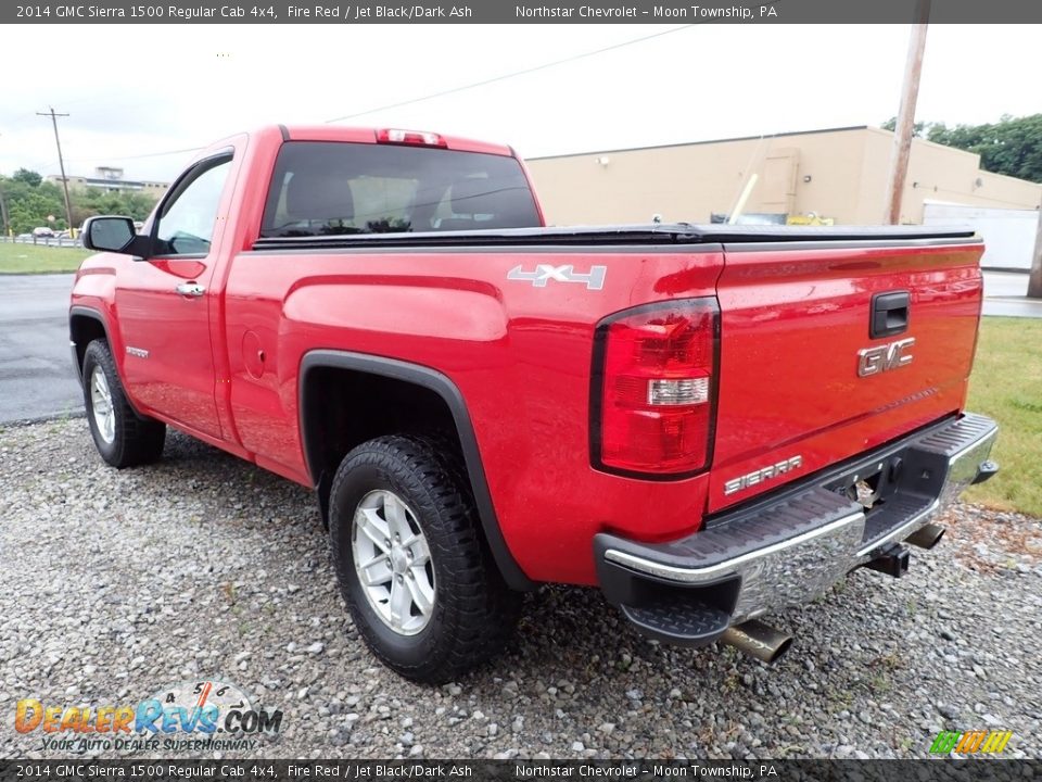
[[[135,400],[217,438],[209,287],[231,160],[231,150],[206,157],[175,182],[152,226],[155,254],[132,264],[116,291]]]

